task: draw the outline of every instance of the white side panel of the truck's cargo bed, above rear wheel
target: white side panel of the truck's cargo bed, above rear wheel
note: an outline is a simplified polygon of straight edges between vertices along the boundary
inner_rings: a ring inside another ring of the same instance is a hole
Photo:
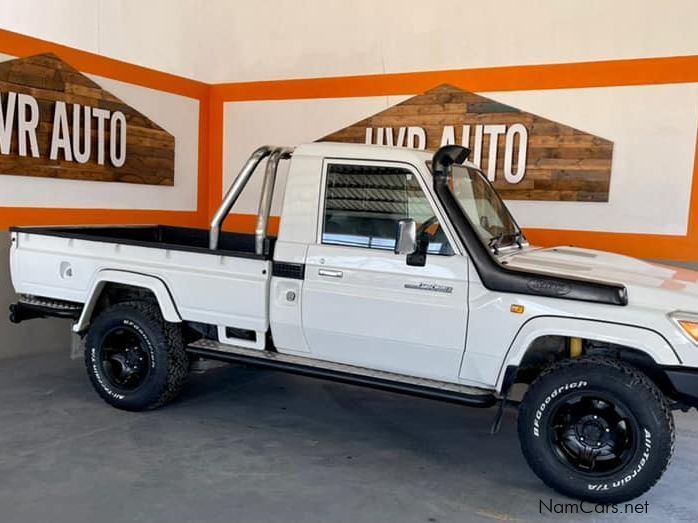
[[[19,294],[85,303],[105,269],[162,280],[182,319],[264,332],[270,262],[13,232],[12,283]]]

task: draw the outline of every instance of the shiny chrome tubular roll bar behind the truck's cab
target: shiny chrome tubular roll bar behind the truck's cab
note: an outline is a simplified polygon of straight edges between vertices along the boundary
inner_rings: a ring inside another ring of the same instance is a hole
[[[211,230],[209,232],[208,247],[215,251],[218,248],[218,240],[220,239],[221,224],[228,216],[235,202],[240,197],[242,190],[247,186],[252,174],[257,166],[266,157],[267,167],[264,171],[264,181],[262,183],[262,194],[259,200],[259,212],[257,214],[257,226],[255,228],[255,253],[258,255],[264,254],[264,240],[266,239],[267,224],[269,223],[269,213],[271,212],[271,201],[274,194],[274,184],[276,183],[276,171],[279,167],[279,161],[291,157],[293,148],[290,147],[274,147],[271,145],[263,145],[254,151],[245,162],[245,165],[240,169],[240,174],[237,175],[228,191],[225,193],[223,202],[216,211],[216,214],[211,220]]]

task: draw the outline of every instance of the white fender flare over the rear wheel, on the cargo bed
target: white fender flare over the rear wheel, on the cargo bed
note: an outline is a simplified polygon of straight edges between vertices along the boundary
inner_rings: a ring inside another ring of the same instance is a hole
[[[73,332],[82,332],[87,329],[94,308],[97,305],[97,300],[101,296],[105,285],[108,283],[119,283],[130,287],[148,289],[155,296],[165,321],[170,323],[180,323],[182,321],[182,317],[177,311],[174,299],[167,285],[165,285],[165,282],[160,278],[137,272],[104,269],[97,272],[92,282],[90,291],[87,294],[85,306],[82,309],[82,314],[80,314],[80,318],[75,325],[73,325]]]

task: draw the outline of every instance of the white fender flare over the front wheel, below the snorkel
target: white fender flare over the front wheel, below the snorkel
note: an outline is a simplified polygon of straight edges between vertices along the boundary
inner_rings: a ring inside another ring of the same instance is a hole
[[[519,328],[507,349],[497,376],[497,390],[501,391],[505,386],[507,369],[518,368],[531,344],[543,336],[584,338],[623,345],[643,352],[657,365],[681,364],[681,358],[667,339],[646,327],[584,318],[536,316]]]

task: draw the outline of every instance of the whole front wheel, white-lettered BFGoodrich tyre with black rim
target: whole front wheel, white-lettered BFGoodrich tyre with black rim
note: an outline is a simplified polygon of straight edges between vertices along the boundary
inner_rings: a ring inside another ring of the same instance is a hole
[[[661,391],[610,358],[566,360],[543,372],[524,396],[518,429],[543,482],[596,503],[649,490],[674,450],[674,418]]]

